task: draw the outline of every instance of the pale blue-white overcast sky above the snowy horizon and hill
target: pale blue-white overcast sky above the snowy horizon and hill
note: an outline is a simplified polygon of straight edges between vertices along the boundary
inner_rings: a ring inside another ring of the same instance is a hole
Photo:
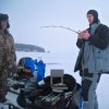
[[[40,26],[85,29],[90,9],[97,10],[101,23],[109,26],[109,0],[0,0],[0,13],[9,14],[15,43],[37,45],[51,52],[73,52],[76,34]]]

